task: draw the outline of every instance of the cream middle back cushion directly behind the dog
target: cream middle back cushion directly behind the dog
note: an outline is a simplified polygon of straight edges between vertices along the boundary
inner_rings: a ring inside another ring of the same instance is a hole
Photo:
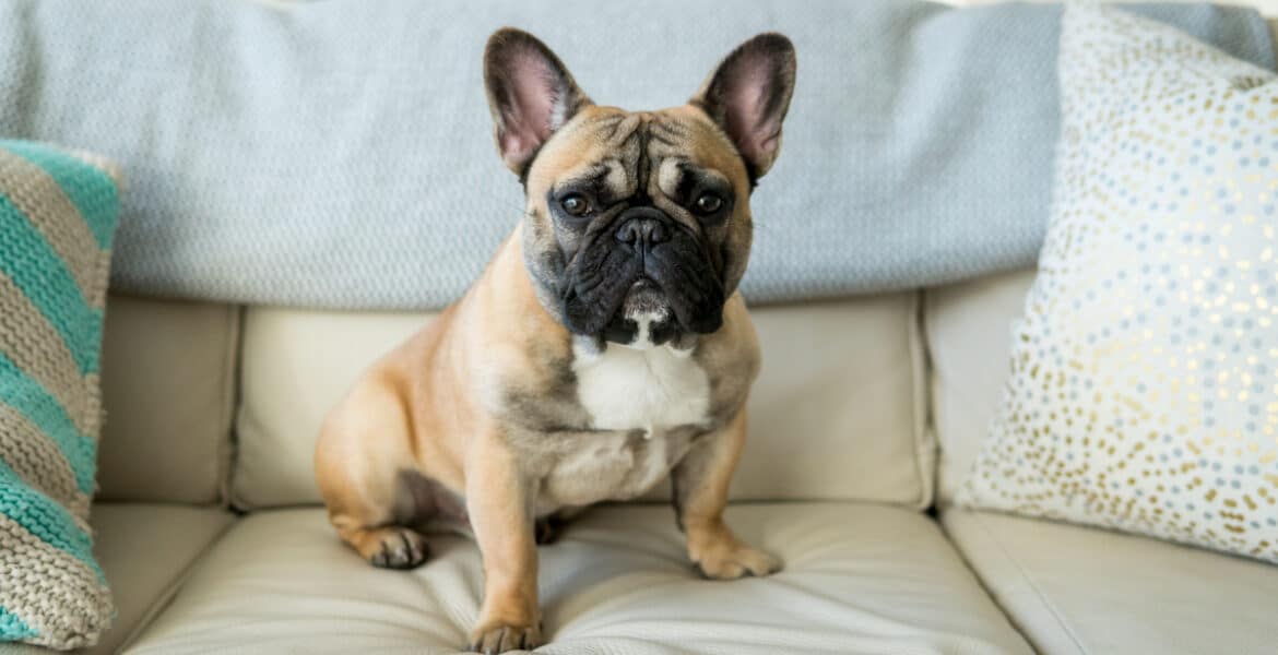
[[[925,507],[916,294],[753,312],[763,372],[739,499],[855,499]],[[244,320],[243,406],[233,498],[259,508],[317,503],[312,451],[325,414],[424,314],[253,308]],[[654,497],[665,497],[658,485]]]

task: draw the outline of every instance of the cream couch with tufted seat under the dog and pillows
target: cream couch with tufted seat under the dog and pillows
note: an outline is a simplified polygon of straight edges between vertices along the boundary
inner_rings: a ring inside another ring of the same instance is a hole
[[[544,652],[1274,652],[1278,568],[952,508],[1033,271],[754,309],[764,365],[728,521],[780,555],[702,580],[665,489],[539,549]],[[320,421],[428,314],[112,296],[93,652],[454,652],[479,555],[374,569],[327,525]],[[33,646],[0,645],[29,655]]]

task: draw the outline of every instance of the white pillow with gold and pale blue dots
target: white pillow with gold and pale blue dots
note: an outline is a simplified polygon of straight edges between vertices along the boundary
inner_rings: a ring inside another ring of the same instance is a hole
[[[1278,78],[1094,5],[1059,74],[1048,236],[960,504],[1278,562]]]

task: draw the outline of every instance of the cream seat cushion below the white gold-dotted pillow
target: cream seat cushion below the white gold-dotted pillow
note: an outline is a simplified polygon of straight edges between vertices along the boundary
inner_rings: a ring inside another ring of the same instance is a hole
[[[1042,652],[1273,652],[1278,644],[1278,567],[1006,515],[953,509],[943,523]]]

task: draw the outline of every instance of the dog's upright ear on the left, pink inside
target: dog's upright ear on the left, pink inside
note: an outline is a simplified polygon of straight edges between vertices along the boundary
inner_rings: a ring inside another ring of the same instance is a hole
[[[590,105],[555,52],[520,29],[507,27],[488,37],[483,80],[497,151],[519,175],[551,133]]]

